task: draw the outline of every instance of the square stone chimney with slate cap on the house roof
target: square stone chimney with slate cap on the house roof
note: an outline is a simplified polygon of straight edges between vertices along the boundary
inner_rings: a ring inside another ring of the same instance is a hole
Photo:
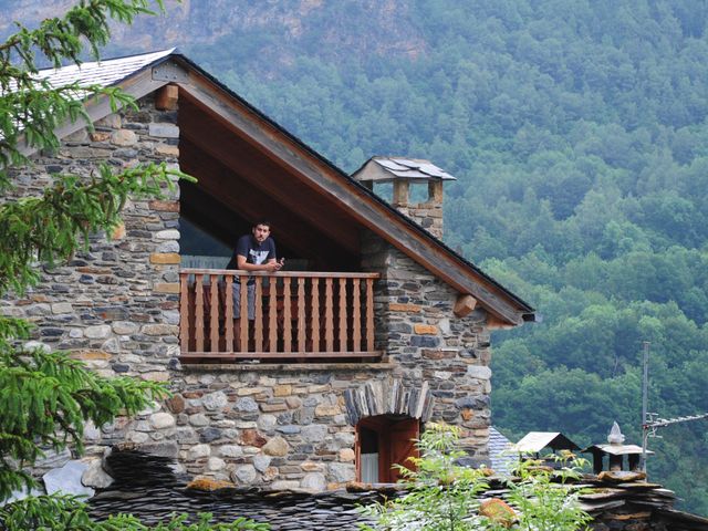
[[[374,189],[376,183],[393,183],[392,206],[436,238],[442,238],[442,181],[455,180],[429,160],[403,157],[372,157],[352,176]],[[412,202],[410,189],[427,186],[427,199]]]

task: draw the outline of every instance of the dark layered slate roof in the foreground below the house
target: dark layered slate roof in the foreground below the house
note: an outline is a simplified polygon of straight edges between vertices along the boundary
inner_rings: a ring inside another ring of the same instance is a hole
[[[104,467],[115,481],[87,500],[91,514],[104,520],[119,512],[132,513],[145,524],[156,524],[175,512],[185,512],[192,521],[197,512],[210,512],[215,521],[247,517],[269,523],[272,531],[344,531],[361,529],[358,524],[367,521],[358,506],[405,496],[400,486],[363,483],[361,490],[319,493],[236,486],[204,491],[189,488],[187,478],[175,475],[171,465],[169,458],[114,448]],[[708,519],[675,510],[676,496],[658,485],[644,481],[615,485],[591,476],[582,481],[566,488],[583,488],[579,493],[581,507],[591,513],[598,529],[649,529],[648,522],[658,521],[664,527],[656,529],[708,531]],[[481,498],[506,498],[506,480],[491,477],[488,482],[490,490],[480,493]],[[632,518],[627,519],[627,514]]]

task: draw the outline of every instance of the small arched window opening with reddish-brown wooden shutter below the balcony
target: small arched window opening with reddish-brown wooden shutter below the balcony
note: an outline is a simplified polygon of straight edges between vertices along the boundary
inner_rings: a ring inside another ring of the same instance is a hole
[[[413,468],[420,436],[417,418],[379,415],[356,425],[356,476],[365,483],[395,483],[402,476],[395,465]]]

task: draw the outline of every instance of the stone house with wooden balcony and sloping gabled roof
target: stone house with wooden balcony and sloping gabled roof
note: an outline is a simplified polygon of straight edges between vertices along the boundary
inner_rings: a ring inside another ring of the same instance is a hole
[[[490,331],[534,313],[440,241],[451,176],[384,157],[348,176],[174,51],[43,74],[119,85],[138,110],[90,102],[94,127],[63,126],[58,153],[17,171],[18,194],[98,162],[166,160],[198,179],[134,198],[112,238],[0,302],[38,325],[35,342],[103,375],[169,384],[164,404],[88,429],[90,456],[127,441],[195,476],[322,490],[395,480],[391,465],[434,419],[488,461]],[[372,191],[381,183],[392,204]],[[246,273],[223,268],[261,217],[288,267],[252,275],[249,325],[225,295]]]

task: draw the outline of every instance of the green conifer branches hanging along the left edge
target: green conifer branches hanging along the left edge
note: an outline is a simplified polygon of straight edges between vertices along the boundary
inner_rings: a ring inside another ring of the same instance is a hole
[[[80,64],[88,48],[110,38],[112,20],[131,23],[152,13],[149,0],[82,0],[64,17],[39,29],[18,24],[0,44],[0,190],[12,189],[13,168],[31,165],[29,153],[60,145],[54,129],[66,121],[85,121],[86,98],[107,97],[114,111],[134,106],[118,88],[96,85],[51,86],[38,79],[37,61],[55,66]],[[157,8],[163,8],[157,0]],[[37,260],[69,259],[92,233],[112,233],[128,196],[162,197],[177,178],[165,164],[117,173],[95,168],[88,179],[55,176],[39,197],[3,197],[0,205],[0,295],[18,296],[39,281]],[[42,449],[69,444],[82,450],[84,424],[103,426],[118,415],[132,415],[164,397],[165,387],[129,377],[104,378],[66,353],[25,350],[30,324],[0,317],[0,501],[12,490],[34,485],[27,471]],[[1,525],[0,525],[1,527]]]

